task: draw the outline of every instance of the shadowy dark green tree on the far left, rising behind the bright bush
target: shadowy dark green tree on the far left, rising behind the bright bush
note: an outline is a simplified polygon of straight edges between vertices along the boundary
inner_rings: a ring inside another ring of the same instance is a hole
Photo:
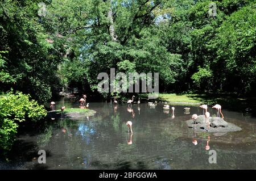
[[[60,48],[47,42],[52,37],[39,23],[38,2],[1,1],[0,51],[7,52],[3,55],[5,74],[1,71],[1,82],[5,79],[5,84],[0,90],[13,87],[46,102],[58,85],[55,71],[61,56],[57,52]],[[2,55],[0,59],[2,66]]]

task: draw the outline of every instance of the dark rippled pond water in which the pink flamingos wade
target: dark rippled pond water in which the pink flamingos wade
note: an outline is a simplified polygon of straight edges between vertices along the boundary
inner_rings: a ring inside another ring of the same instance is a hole
[[[63,105],[79,107],[64,99],[55,107]],[[122,103],[90,103],[94,116],[48,118],[44,127],[20,132],[10,161],[1,161],[0,169],[256,169],[255,117],[224,108],[225,120],[242,131],[197,133],[185,121],[203,110],[175,106],[173,116],[162,107],[141,103],[129,110]],[[127,121],[133,122],[133,134]],[[38,150],[46,150],[46,164],[38,163]],[[210,150],[216,151],[217,163],[209,163]]]

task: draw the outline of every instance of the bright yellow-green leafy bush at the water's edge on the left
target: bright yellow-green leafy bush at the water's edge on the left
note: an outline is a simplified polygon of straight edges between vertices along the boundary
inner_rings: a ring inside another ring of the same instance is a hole
[[[47,115],[43,106],[22,92],[0,94],[0,149],[10,150],[19,123],[37,121]]]

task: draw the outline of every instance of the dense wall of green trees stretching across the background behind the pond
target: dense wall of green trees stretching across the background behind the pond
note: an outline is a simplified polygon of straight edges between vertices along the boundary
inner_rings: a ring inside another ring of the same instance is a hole
[[[110,68],[158,72],[160,91],[256,90],[253,0],[52,0],[46,16],[38,2],[1,3],[2,91],[41,102],[60,87],[97,94],[97,75]]]

